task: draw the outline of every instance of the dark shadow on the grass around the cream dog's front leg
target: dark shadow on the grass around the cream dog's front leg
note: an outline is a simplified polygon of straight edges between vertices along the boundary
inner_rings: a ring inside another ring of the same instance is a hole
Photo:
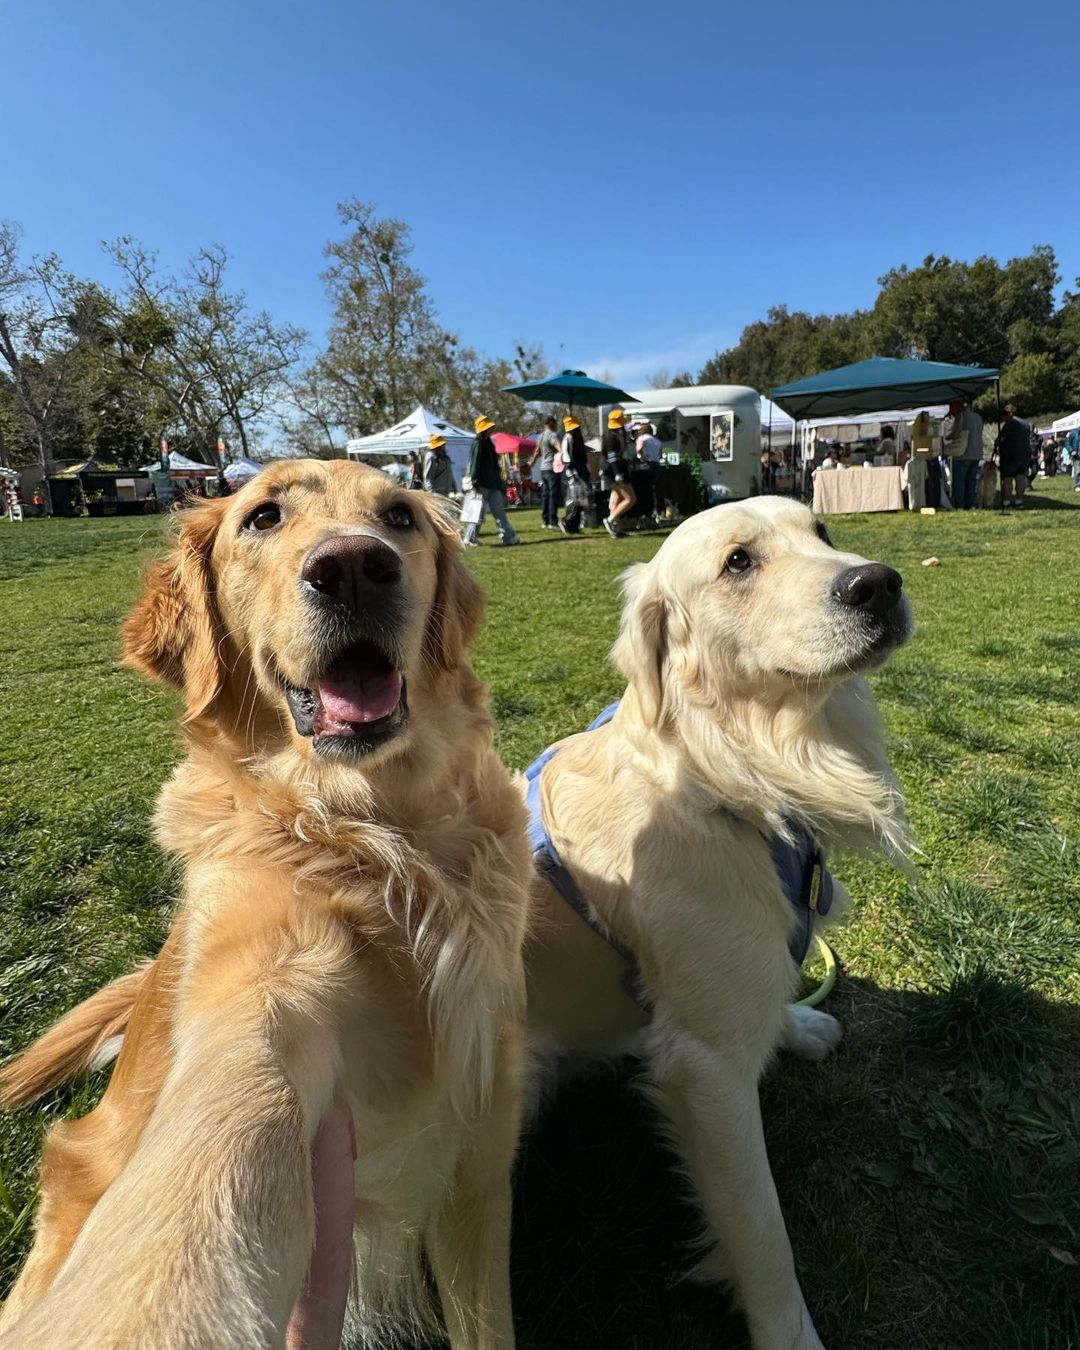
[[[1080,1011],[980,968],[932,992],[842,980],[826,1064],[763,1084],[770,1154],[826,1345],[1068,1346],[1080,1336]],[[516,1187],[522,1350],[747,1345],[684,1278],[699,1231],[624,1061],[566,1087]]]

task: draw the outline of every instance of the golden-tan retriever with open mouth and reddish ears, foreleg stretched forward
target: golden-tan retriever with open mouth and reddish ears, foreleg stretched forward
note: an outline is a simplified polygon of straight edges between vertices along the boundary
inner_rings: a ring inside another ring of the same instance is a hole
[[[5,1071],[8,1106],[124,1031],[57,1126],[7,1350],[282,1345],[312,1141],[355,1120],[355,1318],[513,1343],[528,848],[466,659],[482,614],[437,501],[344,463],[185,513],[124,629],[185,695],[157,832],[185,864],[157,960]]]

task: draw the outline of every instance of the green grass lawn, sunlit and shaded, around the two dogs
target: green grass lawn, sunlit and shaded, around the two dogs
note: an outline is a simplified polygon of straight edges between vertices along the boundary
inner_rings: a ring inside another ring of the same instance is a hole
[[[922,846],[913,887],[838,860],[844,1022],[824,1065],[770,1072],[770,1150],[832,1350],[1080,1347],[1080,498],[1022,516],[844,517],[840,547],[905,574],[918,633],[875,676]],[[475,649],[508,763],[620,693],[617,578],[659,535],[544,533],[470,554]],[[0,1054],[162,940],[176,869],[147,837],[176,701],[116,664],[161,524],[0,522]],[[490,528],[487,535],[490,543]],[[921,567],[936,555],[941,566]],[[0,1289],[24,1251],[42,1131],[101,1083],[0,1118]],[[567,1092],[525,1143],[524,1350],[744,1343],[680,1278],[694,1216],[633,1066]]]

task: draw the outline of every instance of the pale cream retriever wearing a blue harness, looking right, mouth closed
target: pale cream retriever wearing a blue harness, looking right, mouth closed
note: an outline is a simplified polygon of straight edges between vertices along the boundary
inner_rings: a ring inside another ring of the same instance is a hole
[[[630,568],[625,597],[618,711],[563,741],[539,778],[593,926],[537,875],[529,1023],[551,1056],[636,1038],[706,1222],[705,1276],[732,1281],[755,1350],[811,1350],[757,1081],[780,1044],[821,1054],[840,1029],[790,1004],[796,918],[771,841],[802,828],[905,857],[902,798],[859,676],[907,640],[911,612],[895,571],[833,548],[778,497],[686,521]]]

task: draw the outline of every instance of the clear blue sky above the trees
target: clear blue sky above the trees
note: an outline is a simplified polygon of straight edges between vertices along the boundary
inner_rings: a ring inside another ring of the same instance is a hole
[[[927,252],[1052,243],[1072,285],[1077,47],[1060,0],[0,0],[0,216],[103,278],[119,234],[221,243],[317,340],[358,196],[466,342],[633,385]]]

